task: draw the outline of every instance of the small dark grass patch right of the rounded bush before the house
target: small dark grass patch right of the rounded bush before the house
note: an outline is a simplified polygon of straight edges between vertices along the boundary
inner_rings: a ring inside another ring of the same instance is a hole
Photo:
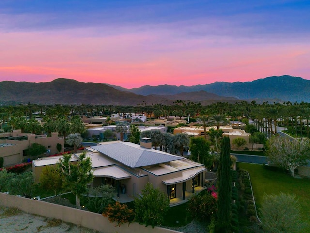
[[[171,207],[164,218],[163,226],[181,227],[190,223],[193,218],[186,209],[187,205],[188,202]]]

